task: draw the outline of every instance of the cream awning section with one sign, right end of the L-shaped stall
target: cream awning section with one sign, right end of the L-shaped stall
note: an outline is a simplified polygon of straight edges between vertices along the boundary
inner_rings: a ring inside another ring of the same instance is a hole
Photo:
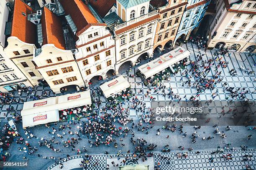
[[[72,107],[79,107],[83,105],[91,105],[91,94],[90,90],[84,92],[78,92],[74,94],[61,95],[58,96],[57,109],[69,109]]]

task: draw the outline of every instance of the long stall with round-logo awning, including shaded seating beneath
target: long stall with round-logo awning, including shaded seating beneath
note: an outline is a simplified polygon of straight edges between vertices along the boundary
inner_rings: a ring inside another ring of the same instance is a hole
[[[141,77],[144,84],[152,86],[155,80],[163,80],[169,77],[171,73],[186,67],[189,60],[190,52],[182,47],[178,47],[159,58],[138,67],[136,74]]]

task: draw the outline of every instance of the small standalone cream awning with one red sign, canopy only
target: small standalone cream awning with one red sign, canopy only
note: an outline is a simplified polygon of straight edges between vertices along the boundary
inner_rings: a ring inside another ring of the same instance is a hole
[[[130,84],[123,76],[117,77],[111,81],[105,82],[103,85],[100,85],[100,89],[106,98],[111,97],[128,87],[130,87]]]

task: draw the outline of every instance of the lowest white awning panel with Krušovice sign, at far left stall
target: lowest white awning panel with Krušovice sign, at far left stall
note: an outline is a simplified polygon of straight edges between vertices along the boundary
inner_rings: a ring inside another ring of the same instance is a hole
[[[49,122],[59,121],[59,112],[58,110],[51,110],[41,113],[22,116],[22,126],[23,128],[41,125]]]

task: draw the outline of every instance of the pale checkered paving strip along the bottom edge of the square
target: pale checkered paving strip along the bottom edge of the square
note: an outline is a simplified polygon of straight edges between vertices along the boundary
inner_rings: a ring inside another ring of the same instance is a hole
[[[161,170],[209,170],[213,168],[214,170],[243,170],[245,165],[251,165],[252,169],[256,168],[256,148],[249,148],[246,151],[243,150],[224,150],[223,153],[211,154],[214,150],[201,150],[200,153],[197,151],[188,151],[187,158],[177,158],[177,152],[169,153],[155,153],[153,157],[149,157],[148,160],[142,161],[141,159],[136,159],[132,154],[123,154],[117,156],[114,154],[110,155],[92,155],[93,163],[97,162],[98,165],[91,163],[86,166],[86,170],[105,170],[106,165],[110,165],[110,170],[119,170],[119,166],[123,165],[149,165],[149,170],[154,170],[155,165],[160,165]],[[185,153],[185,152],[180,152]],[[221,158],[223,155],[231,154],[232,160],[225,160]],[[252,159],[249,161],[243,161],[243,155],[252,155]],[[110,158],[112,156],[112,158]],[[76,158],[75,158],[76,157]],[[82,155],[74,156],[71,160],[64,162],[60,161],[66,169],[79,168],[79,163],[83,160]],[[128,160],[125,160],[128,157]],[[164,158],[163,158],[164,157]],[[168,159],[169,158],[169,159]],[[209,158],[213,158],[213,163],[209,161]],[[111,164],[115,162],[115,166]],[[57,164],[51,165],[47,170],[60,170]]]

